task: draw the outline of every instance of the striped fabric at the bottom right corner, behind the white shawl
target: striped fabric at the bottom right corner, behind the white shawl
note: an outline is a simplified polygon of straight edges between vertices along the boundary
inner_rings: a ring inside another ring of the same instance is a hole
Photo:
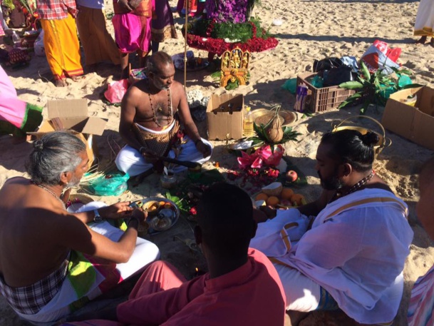
[[[408,326],[434,325],[434,266],[415,282],[407,317]]]

